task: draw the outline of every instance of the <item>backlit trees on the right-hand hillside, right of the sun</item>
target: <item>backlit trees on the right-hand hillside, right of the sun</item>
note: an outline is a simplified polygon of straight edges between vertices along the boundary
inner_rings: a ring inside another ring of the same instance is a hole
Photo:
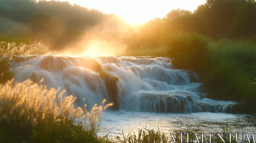
[[[256,34],[256,3],[254,0],[206,0],[194,12],[172,10],[162,19],[145,23],[134,45],[156,48],[161,46],[163,33],[179,32],[196,32],[212,39],[253,37]]]

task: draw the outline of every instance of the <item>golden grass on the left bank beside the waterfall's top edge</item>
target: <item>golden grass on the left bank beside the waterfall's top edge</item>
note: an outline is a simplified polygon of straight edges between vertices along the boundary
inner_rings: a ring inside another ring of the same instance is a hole
[[[10,41],[18,41],[20,44]],[[13,65],[13,63],[15,63],[14,55],[60,55],[60,53],[61,51],[49,50],[48,47],[41,42],[36,43],[35,41],[29,41],[26,37],[13,37],[12,35],[0,34],[0,84],[11,80],[15,74],[25,68],[17,68],[16,65]]]

